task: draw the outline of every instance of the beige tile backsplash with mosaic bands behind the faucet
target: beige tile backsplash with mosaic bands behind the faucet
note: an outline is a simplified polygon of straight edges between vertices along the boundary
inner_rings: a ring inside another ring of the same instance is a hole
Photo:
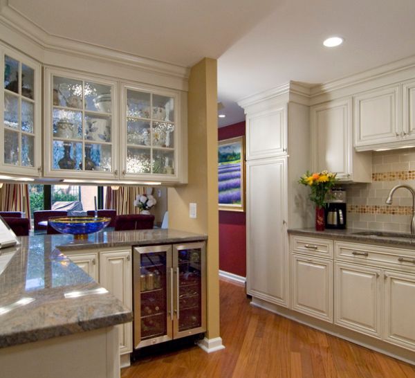
[[[415,190],[415,148],[373,152],[372,182],[346,185],[347,227],[409,232],[412,195],[398,189],[391,206],[386,204],[389,190],[409,185]]]

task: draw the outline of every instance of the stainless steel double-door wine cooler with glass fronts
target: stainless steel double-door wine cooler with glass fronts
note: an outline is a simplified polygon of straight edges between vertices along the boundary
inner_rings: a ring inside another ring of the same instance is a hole
[[[205,243],[133,249],[134,349],[206,330]]]

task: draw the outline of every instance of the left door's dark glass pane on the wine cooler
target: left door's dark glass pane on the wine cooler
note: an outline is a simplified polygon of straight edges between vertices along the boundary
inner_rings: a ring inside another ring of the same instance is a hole
[[[140,255],[141,339],[167,334],[167,258],[165,252]]]

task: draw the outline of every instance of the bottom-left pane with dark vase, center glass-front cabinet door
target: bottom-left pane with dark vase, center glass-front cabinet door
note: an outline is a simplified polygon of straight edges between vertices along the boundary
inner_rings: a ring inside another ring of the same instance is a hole
[[[53,169],[80,170],[82,143],[53,141]]]

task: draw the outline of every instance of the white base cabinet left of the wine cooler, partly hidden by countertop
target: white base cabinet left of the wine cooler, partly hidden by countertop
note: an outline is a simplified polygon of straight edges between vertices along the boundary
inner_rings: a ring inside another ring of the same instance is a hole
[[[131,249],[80,251],[66,255],[124,305],[132,308]],[[120,354],[132,352],[132,323],[124,323],[117,327]]]

